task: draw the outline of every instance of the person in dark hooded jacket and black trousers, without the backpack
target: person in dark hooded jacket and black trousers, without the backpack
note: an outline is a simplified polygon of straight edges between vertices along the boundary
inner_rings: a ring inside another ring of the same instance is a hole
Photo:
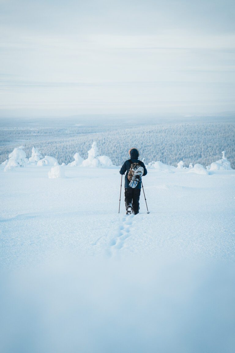
[[[147,174],[147,169],[144,163],[138,160],[139,151],[137,150],[137,148],[131,148],[129,150],[129,156],[130,156],[130,159],[125,161],[119,173],[124,175],[126,172],[126,175],[125,175],[126,214],[130,214],[132,211],[132,213],[136,215],[137,213],[139,213],[139,209],[140,209],[139,200],[140,200],[140,192],[141,192],[141,180],[138,182],[135,188],[130,187],[129,186],[130,180],[128,180],[128,172],[132,163],[138,163],[140,164],[141,167],[143,167],[144,169],[143,176]]]

